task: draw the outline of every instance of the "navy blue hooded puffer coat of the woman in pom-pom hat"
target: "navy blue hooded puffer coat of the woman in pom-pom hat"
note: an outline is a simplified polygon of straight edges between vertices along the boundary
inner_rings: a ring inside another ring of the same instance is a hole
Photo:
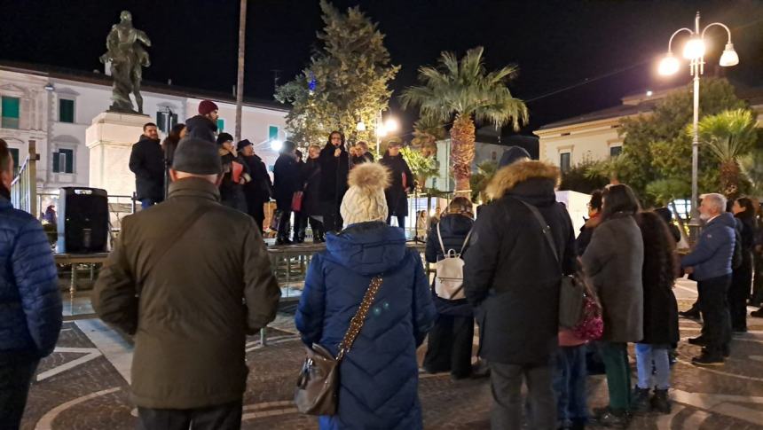
[[[328,235],[305,280],[296,327],[306,345],[334,354],[375,275],[384,282],[341,367],[339,410],[321,429],[422,428],[416,348],[437,311],[421,257],[401,229],[358,223]]]

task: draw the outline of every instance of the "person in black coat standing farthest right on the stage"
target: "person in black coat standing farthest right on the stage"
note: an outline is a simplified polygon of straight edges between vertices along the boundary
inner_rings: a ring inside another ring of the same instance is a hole
[[[389,168],[391,174],[389,187],[384,192],[387,196],[387,207],[389,207],[387,223],[392,225],[392,215],[395,215],[397,216],[397,227],[405,229],[405,216],[408,215],[408,192],[413,190],[413,173],[411,173],[408,163],[405,162],[400,153],[400,144],[397,142],[390,143],[387,153],[381,158],[380,163]]]

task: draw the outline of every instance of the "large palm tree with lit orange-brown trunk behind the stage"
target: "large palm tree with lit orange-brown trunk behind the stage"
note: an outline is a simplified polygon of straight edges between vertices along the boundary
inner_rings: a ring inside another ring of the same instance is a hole
[[[483,52],[482,47],[471,49],[460,61],[452,52],[443,52],[437,67],[419,68],[423,85],[408,88],[401,96],[403,107],[420,106],[422,116],[442,122],[453,120],[451,158],[456,194],[469,193],[475,157],[475,121],[491,122],[496,127],[510,123],[519,129],[528,117],[527,106],[512,97],[506,86],[517,67],[506,66],[487,73]]]

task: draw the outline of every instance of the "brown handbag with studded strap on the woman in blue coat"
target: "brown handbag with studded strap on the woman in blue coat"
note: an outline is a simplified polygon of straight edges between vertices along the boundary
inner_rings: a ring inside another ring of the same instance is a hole
[[[339,353],[334,357],[325,347],[317,343],[312,348],[305,347],[307,357],[296,380],[294,402],[296,409],[308,415],[334,415],[339,391],[339,365],[352,348],[358,333],[366,323],[366,315],[374,304],[382,278],[374,277],[368,285],[358,311],[350,320],[350,326],[339,344]]]

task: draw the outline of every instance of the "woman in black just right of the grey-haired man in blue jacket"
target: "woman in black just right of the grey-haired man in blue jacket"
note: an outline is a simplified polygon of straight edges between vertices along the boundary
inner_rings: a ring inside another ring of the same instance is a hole
[[[731,330],[747,332],[747,299],[752,289],[752,252],[755,249],[756,219],[752,200],[741,197],[731,207],[737,225],[741,224],[742,265],[734,270],[728,289],[728,310],[731,313]]]

